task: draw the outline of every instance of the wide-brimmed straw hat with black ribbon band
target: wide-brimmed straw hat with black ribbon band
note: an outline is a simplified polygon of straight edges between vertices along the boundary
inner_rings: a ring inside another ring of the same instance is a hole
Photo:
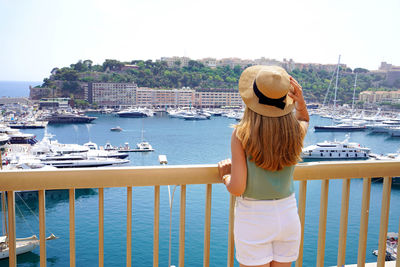
[[[281,117],[293,110],[289,90],[293,90],[290,76],[278,66],[251,66],[239,79],[239,93],[246,106],[267,117]]]

